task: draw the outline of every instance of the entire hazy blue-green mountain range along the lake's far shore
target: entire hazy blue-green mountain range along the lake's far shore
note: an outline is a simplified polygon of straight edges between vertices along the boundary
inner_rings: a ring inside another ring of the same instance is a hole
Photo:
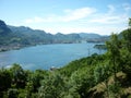
[[[72,33],[67,35],[58,33],[52,35],[45,30],[32,29],[25,26],[7,25],[3,21],[0,21],[0,50],[40,44],[73,44],[82,40],[98,42],[107,40],[107,37],[95,33]]]

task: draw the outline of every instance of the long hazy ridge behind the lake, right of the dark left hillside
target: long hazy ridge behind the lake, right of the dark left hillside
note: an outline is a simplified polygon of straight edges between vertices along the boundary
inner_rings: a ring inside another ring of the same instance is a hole
[[[81,37],[79,34],[61,34],[58,33],[56,35],[46,33],[45,30],[32,29],[25,26],[9,26],[9,28],[14,34],[23,35],[24,38],[28,39],[29,42],[37,44],[67,44],[67,42],[76,42]]]

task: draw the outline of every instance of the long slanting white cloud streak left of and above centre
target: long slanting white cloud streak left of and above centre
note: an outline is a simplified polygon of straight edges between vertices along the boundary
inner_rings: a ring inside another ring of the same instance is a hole
[[[39,17],[35,16],[32,19],[27,19],[24,22],[29,23],[45,23],[45,22],[71,22],[78,21],[80,19],[87,17],[88,15],[93,14],[96,10],[94,8],[80,8],[75,10],[64,10],[64,15],[50,15],[48,17]]]

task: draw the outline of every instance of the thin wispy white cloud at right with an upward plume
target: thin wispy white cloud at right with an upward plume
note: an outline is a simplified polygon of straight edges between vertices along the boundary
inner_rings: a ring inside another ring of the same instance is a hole
[[[91,23],[98,23],[98,24],[120,24],[124,23],[128,19],[127,13],[117,13],[116,8],[114,5],[108,5],[107,13],[96,14],[90,22]],[[117,13],[117,14],[116,14]]]

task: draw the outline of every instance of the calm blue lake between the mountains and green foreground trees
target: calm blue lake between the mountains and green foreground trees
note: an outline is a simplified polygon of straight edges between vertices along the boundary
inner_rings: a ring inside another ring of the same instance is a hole
[[[19,63],[27,70],[60,68],[73,60],[105,52],[95,49],[95,42],[39,45],[0,52],[0,68],[9,68],[13,63]]]

